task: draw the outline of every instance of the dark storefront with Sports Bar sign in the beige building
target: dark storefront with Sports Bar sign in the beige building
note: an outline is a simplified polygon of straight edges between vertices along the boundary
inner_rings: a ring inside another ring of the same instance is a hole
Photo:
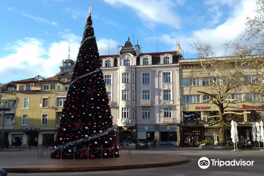
[[[202,128],[182,128],[182,145],[188,146],[188,139],[193,138],[195,141],[202,142]]]

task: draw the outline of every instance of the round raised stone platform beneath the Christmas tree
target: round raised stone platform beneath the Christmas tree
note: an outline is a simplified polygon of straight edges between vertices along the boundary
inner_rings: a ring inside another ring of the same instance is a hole
[[[134,150],[136,151],[136,150]],[[164,154],[134,153],[131,157],[123,153],[123,157],[108,159],[49,159],[37,158],[38,150],[24,150],[18,152],[0,153],[0,168],[7,172],[62,172],[62,171],[90,171],[90,170],[120,170],[145,167],[176,165],[188,162],[184,156]]]

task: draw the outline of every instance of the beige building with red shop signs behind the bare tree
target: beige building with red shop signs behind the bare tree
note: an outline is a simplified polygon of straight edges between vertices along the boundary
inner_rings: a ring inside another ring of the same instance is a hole
[[[199,67],[198,59],[182,59],[179,62],[180,67],[180,95],[181,95],[181,144],[187,145],[187,138],[194,137],[202,141],[206,137],[213,137],[218,141],[217,127],[204,125],[195,119],[210,121],[208,117],[217,114],[217,106],[209,102],[200,102],[208,100],[208,95],[202,95],[197,91],[207,92],[209,79],[190,79],[190,71]],[[197,75],[199,77],[199,75]],[[216,75],[217,77],[217,75]],[[253,76],[248,75],[248,78]],[[249,80],[253,80],[249,79]],[[241,140],[251,140],[251,125],[264,119],[263,107],[256,106],[256,101],[259,96],[255,96],[248,90],[244,89],[241,92],[231,92],[232,99],[236,98],[236,104],[232,104],[236,108],[227,108],[226,111],[246,112],[251,111],[251,114],[228,114],[226,123],[231,123],[234,120],[238,124],[238,133]],[[226,104],[224,104],[225,106]],[[226,136],[229,136],[227,131]]]

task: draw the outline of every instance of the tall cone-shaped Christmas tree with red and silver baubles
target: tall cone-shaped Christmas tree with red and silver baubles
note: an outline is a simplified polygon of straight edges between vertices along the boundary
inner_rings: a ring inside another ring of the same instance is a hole
[[[91,12],[89,7],[52,158],[119,157]]]

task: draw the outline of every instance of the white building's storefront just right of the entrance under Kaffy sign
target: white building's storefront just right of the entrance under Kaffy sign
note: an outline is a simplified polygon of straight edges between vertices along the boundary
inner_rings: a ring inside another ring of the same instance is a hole
[[[155,125],[138,125],[138,143],[153,143],[155,138]]]

